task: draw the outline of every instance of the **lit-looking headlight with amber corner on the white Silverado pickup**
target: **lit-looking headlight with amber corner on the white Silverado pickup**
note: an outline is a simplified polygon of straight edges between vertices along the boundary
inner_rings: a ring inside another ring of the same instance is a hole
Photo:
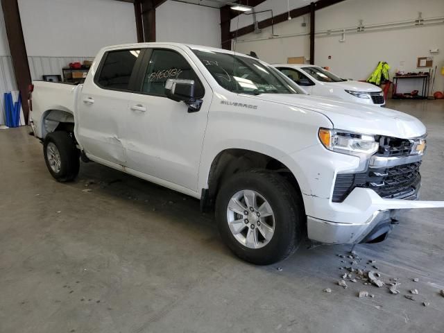
[[[373,135],[319,128],[318,136],[325,148],[343,154],[373,155],[379,148]]]

